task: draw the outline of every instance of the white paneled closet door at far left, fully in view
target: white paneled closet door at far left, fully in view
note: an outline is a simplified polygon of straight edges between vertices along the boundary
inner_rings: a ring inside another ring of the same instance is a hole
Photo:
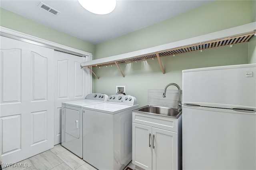
[[[0,41],[0,152],[15,163],[54,146],[54,50]]]

